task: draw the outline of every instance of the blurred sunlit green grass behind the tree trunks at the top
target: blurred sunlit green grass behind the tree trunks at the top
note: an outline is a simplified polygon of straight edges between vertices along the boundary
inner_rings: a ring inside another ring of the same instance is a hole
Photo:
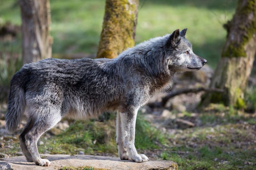
[[[53,56],[57,53],[95,54],[104,6],[104,0],[51,1]],[[141,0],[136,43],[171,33],[177,28],[188,28],[186,37],[192,42],[194,52],[216,67],[225,42],[226,31],[222,25],[232,17],[235,7],[236,0]],[[15,0],[2,2],[0,23],[6,21],[21,23],[19,5]],[[13,46],[20,49],[20,43]]]

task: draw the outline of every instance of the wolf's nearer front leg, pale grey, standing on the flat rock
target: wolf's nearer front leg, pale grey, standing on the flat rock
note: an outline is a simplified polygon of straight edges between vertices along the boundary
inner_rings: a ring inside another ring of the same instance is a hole
[[[134,145],[135,140],[135,123],[138,109],[129,108],[127,112],[120,112],[121,130],[124,142],[124,148],[128,156],[135,162],[148,161],[144,154],[138,154]]]

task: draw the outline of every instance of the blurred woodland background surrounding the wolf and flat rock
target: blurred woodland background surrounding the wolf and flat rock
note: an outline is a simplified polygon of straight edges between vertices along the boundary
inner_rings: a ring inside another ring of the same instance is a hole
[[[31,5],[31,2],[29,4],[26,0],[0,0],[0,157],[22,154],[17,137],[26,123],[26,118],[16,136],[10,136],[4,129],[4,114],[10,80],[24,63],[48,58],[47,55],[63,59],[96,58],[110,51],[116,57],[120,51],[134,44],[170,34],[176,29],[188,28],[186,38],[192,43],[194,53],[208,61],[207,65],[198,72],[180,73],[175,76],[174,87],[169,91],[178,92],[179,95],[157,95],[139,110],[135,146],[138,152],[145,153],[151,160],[173,160],[178,163],[180,169],[256,168],[256,71],[253,67],[255,56],[253,44],[256,44],[256,41],[251,41],[253,36],[247,36],[254,35],[255,38],[256,31],[255,26],[251,29],[251,21],[247,22],[242,17],[236,17],[246,8],[251,10],[253,17],[256,18],[255,0],[132,2],[134,4],[128,3],[124,6],[134,13],[131,15],[131,20],[129,17],[126,18],[133,29],[132,33],[129,33],[128,29],[122,30],[125,24],[120,15],[124,14],[113,9],[109,12],[108,6],[111,3],[117,9],[118,7],[123,9],[120,6],[122,3],[118,4],[118,1],[45,0],[35,1]],[[252,6],[244,7],[241,5],[244,2],[251,3]],[[119,17],[111,17],[115,12]],[[115,25],[113,21],[115,19],[119,24]],[[243,32],[237,31],[237,39],[239,36],[244,39],[246,35],[246,42],[233,43],[236,46],[231,48],[228,44],[229,35],[239,29],[234,25],[235,22],[240,23],[242,25],[240,27],[250,27],[250,29],[248,28],[248,32],[247,29],[243,29]],[[114,24],[113,27],[111,23]],[[252,20],[251,25],[255,23],[256,19]],[[36,24],[39,25],[38,28]],[[121,31],[116,32],[120,37],[127,31],[127,35],[132,36],[132,42],[123,43],[122,40],[129,39],[128,37],[117,38],[116,42],[120,43],[115,46],[120,50],[114,52],[108,47],[109,42],[106,43],[104,39],[115,41],[113,40],[115,38],[111,38],[116,36],[111,29],[115,30],[118,27]],[[129,26],[127,28],[130,29]],[[37,42],[38,30],[43,37],[42,42]],[[249,52],[245,51],[236,56],[239,52],[237,49],[240,49],[241,45],[245,46],[249,41],[252,44],[249,47],[252,54],[249,56],[247,55]],[[28,45],[29,43],[32,44]],[[39,46],[39,55],[38,51],[30,52],[37,46]],[[43,46],[43,50],[40,46]],[[226,55],[225,52],[228,51],[226,48],[232,49],[229,52],[230,56]],[[103,49],[107,50],[101,53]],[[40,50],[47,52],[44,54]],[[31,53],[36,55],[32,56]],[[246,56],[243,56],[244,53]],[[232,59],[234,56],[236,61]],[[237,57],[241,58],[241,56],[243,58],[240,61]],[[228,59],[224,61],[225,57]],[[245,70],[236,68],[238,63],[243,63],[244,60],[250,67],[246,65]],[[231,70],[225,71],[227,69],[222,68],[221,63]],[[217,70],[222,72],[215,72],[217,66],[221,67]],[[246,70],[249,75],[244,74]],[[233,76],[232,72],[236,72],[236,76]],[[216,77],[222,73],[226,78],[217,80]],[[233,81],[224,82],[224,79],[228,79],[228,75],[232,75],[230,79],[238,81],[235,84],[241,81],[240,84],[243,86],[235,87],[235,92],[227,92],[226,89],[232,89],[231,86],[234,84]],[[228,84],[228,87],[221,84]],[[219,89],[224,89],[224,95],[212,94],[212,91]],[[234,93],[239,94],[234,95]],[[224,101],[223,96],[228,96],[229,99]],[[39,139],[38,149],[41,153],[51,154],[117,156],[115,113],[104,113],[97,120],[63,120]]]

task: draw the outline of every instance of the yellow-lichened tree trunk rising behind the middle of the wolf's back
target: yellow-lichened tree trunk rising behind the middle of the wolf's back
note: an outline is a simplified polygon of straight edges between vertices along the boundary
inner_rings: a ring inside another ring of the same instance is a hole
[[[97,58],[116,58],[134,46],[139,0],[106,0]]]

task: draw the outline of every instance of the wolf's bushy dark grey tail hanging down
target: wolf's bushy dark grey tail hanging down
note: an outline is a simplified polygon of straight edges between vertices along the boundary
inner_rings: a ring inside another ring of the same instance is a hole
[[[11,81],[10,94],[8,96],[7,111],[5,114],[5,128],[13,133],[20,124],[26,107],[25,82],[28,75],[22,70],[14,74]]]

